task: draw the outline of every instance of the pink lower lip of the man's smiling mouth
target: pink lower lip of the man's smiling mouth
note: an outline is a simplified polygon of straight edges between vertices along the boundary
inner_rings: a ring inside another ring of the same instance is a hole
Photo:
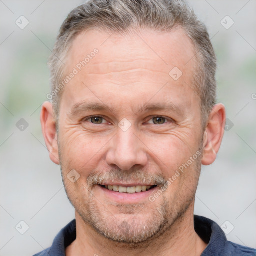
[[[148,191],[144,191],[144,192],[120,193],[120,192],[115,192],[113,190],[108,190],[107,188],[100,185],[96,185],[94,188],[99,192],[100,194],[99,198],[106,197],[109,201],[122,203],[122,204],[129,204],[129,203],[134,204],[134,203],[143,202],[145,200],[149,201],[148,197],[159,189],[158,186],[155,186],[149,189]]]

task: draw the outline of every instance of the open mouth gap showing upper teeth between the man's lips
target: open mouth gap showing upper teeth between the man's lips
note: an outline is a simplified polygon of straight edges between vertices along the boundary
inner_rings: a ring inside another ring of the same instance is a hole
[[[157,186],[157,185],[121,186],[121,185],[109,185],[109,184],[108,185],[98,184],[98,185],[110,191],[119,192],[119,193],[141,193],[141,192],[148,191]]]

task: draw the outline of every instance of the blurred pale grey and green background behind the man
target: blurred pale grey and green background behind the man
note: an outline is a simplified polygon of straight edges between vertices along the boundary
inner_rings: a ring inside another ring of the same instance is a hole
[[[49,247],[74,218],[60,168],[49,159],[39,114],[50,92],[47,59],[58,30],[82,3],[0,0],[1,256],[33,255]],[[208,28],[218,58],[218,102],[227,111],[217,159],[202,166],[195,214],[217,222],[228,240],[255,248],[256,1],[188,3]]]

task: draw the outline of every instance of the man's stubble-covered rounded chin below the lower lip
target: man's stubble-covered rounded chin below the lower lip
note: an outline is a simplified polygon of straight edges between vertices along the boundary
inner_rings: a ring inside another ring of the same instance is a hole
[[[87,210],[77,210],[84,223],[113,242],[132,246],[144,244],[158,236],[169,224],[167,205],[103,205],[91,201]],[[113,207],[115,210],[113,210]]]

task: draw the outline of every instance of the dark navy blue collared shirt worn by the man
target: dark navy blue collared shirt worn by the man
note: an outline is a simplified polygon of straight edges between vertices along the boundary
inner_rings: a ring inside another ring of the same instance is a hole
[[[256,256],[256,249],[226,240],[225,233],[214,221],[194,215],[194,229],[207,247],[201,256]],[[75,219],[55,237],[52,246],[34,256],[65,256],[65,248],[76,238]]]

